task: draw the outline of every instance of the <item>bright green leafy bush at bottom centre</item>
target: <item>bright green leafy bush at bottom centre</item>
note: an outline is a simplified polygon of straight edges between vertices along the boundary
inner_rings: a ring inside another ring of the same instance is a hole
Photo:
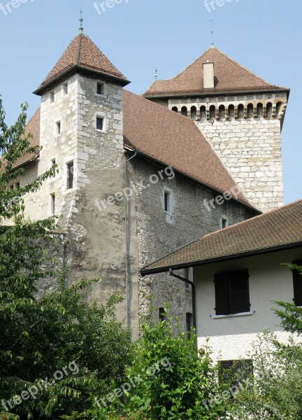
[[[195,335],[187,339],[167,311],[168,306],[164,321],[155,324],[145,319],[141,325],[142,337],[127,372],[127,383],[136,386],[103,408],[94,405],[94,419],[216,420],[224,412],[223,402],[208,405],[209,409],[203,404],[219,395],[217,368],[208,346],[197,352]],[[119,386],[115,383],[115,388]]]

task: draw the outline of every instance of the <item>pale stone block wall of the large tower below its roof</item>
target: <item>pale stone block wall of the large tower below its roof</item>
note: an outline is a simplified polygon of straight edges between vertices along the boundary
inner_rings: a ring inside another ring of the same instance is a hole
[[[285,93],[169,99],[192,118],[250,202],[261,211],[283,204],[281,127]]]

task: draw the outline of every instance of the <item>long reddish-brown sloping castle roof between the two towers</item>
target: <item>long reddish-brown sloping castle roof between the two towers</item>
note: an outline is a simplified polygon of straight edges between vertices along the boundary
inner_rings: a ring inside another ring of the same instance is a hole
[[[127,90],[124,90],[124,141],[139,153],[171,165],[178,172],[221,193],[236,187],[190,118]],[[238,200],[252,207],[243,193],[238,195]]]

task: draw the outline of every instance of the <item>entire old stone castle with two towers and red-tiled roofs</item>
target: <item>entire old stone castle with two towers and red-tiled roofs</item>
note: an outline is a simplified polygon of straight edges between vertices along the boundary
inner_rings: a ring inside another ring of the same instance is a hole
[[[24,156],[17,188],[54,163],[58,174],[24,197],[25,214],[62,214],[57,267],[66,285],[101,277],[89,300],[122,293],[119,318],[138,336],[138,314],[165,301],[192,325],[192,270],[182,279],[139,269],[209,232],[283,201],[280,132],[289,90],[270,85],[215,47],[142,95],[80,33],[34,92],[27,124],[38,155]],[[52,288],[51,281],[40,285]]]

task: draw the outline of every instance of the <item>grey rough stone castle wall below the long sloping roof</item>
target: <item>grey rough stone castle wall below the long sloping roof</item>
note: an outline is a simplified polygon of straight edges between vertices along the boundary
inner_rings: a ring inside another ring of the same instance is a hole
[[[227,216],[229,224],[254,216],[254,211],[233,200],[224,202],[215,209],[205,205],[216,197],[213,190],[190,182],[184,176],[166,169],[167,176],[161,173],[164,167],[140,157],[131,161],[131,185],[143,182],[145,189],[138,188],[136,201],[136,235],[138,241],[138,269],[164,255],[175,251],[194,239],[220,229],[221,216]],[[169,179],[170,178],[170,179]],[[157,183],[152,183],[158,179]],[[172,197],[172,211],[164,210],[164,191]],[[184,276],[184,270],[177,274]],[[192,291],[185,283],[168,274],[153,274],[139,277],[139,307],[142,314],[150,309],[148,295],[152,296],[155,307],[154,317],[158,319],[158,308],[164,302],[171,302],[171,316],[178,316],[180,325],[185,328],[185,314],[192,313]]]

